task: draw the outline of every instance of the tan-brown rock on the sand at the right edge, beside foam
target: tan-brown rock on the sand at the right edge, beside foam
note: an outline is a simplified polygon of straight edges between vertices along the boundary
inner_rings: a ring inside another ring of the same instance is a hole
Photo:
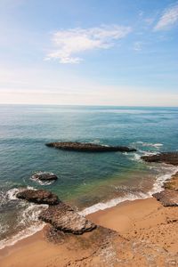
[[[178,206],[178,191],[176,190],[163,190],[153,194],[153,197],[157,198],[163,206]]]

